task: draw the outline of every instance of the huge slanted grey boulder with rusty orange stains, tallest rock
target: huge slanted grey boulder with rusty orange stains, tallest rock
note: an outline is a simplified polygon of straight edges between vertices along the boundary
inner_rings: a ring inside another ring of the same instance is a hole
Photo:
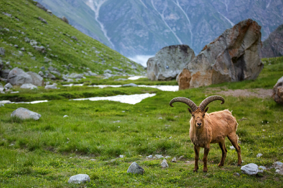
[[[179,74],[179,89],[256,79],[263,68],[260,28],[246,19],[224,31]]]

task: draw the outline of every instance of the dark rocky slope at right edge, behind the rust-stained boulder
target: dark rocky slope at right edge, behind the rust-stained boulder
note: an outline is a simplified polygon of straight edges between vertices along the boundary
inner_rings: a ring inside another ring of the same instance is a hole
[[[262,43],[261,57],[283,56],[283,25],[273,31]]]

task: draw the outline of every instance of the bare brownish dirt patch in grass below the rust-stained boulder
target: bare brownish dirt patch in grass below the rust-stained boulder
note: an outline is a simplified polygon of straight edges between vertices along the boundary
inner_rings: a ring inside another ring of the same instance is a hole
[[[220,88],[218,89],[213,89],[216,94],[219,95],[226,95],[226,96],[233,96],[233,97],[257,97],[257,98],[267,98],[267,97],[272,97],[272,89],[262,89],[262,88],[257,88],[257,89],[235,89],[235,90],[221,90]]]

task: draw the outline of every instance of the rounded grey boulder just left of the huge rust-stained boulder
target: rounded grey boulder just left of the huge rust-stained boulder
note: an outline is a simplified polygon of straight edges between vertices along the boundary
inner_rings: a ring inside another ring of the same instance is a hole
[[[173,45],[159,50],[147,61],[147,77],[150,80],[172,80],[195,57],[188,45]]]

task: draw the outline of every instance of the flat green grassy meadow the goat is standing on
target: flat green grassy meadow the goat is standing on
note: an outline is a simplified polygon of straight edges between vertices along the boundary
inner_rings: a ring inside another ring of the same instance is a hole
[[[0,107],[0,187],[282,187],[283,176],[276,174],[275,169],[256,176],[241,174],[240,167],[236,166],[237,152],[230,149],[228,139],[223,168],[217,166],[221,150],[218,144],[211,144],[208,172],[192,172],[194,149],[188,132],[191,116],[183,103],[169,106],[169,101],[177,96],[190,98],[198,105],[220,90],[272,89],[283,75],[283,57],[262,61],[265,67],[256,80],[177,92],[140,87],[98,89],[58,85],[61,89],[39,88],[20,90],[20,94],[1,94],[0,100],[51,101]],[[85,85],[92,82],[89,80]],[[106,80],[104,84],[113,82]],[[156,96],[135,105],[68,100],[145,92],[156,93]],[[209,112],[229,109],[237,120],[246,118],[238,121],[237,130],[243,165],[270,166],[276,161],[283,162],[283,107],[272,98],[223,97],[225,103],[210,103]],[[42,117],[37,121],[11,118],[12,111],[19,107],[38,112]],[[64,115],[69,117],[63,118]],[[121,122],[113,123],[117,120]],[[257,158],[258,153],[263,156]],[[120,154],[125,157],[118,158]],[[150,154],[171,156],[167,159],[169,167],[161,168],[163,158],[146,159]],[[182,160],[170,162],[173,157],[180,156],[184,156]],[[200,169],[202,157],[203,149],[200,150]],[[111,161],[113,159],[115,161]],[[127,174],[134,161],[145,169],[143,175]],[[234,172],[241,175],[235,176]],[[68,184],[70,176],[76,174],[88,174],[91,181]]]

